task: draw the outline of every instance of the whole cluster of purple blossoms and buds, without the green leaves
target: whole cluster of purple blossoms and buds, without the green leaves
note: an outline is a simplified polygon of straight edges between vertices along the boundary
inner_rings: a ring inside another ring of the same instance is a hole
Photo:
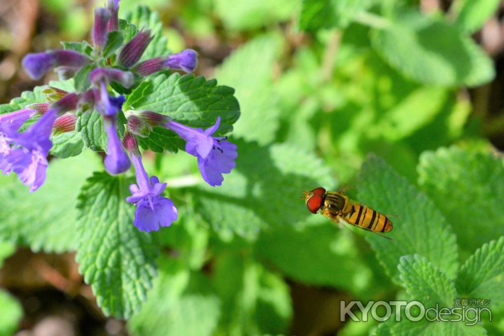
[[[197,53],[192,49],[139,62],[153,39],[148,29],[139,31],[113,57],[102,55],[108,33],[119,29],[118,9],[119,0],[109,0],[106,8],[95,10],[91,53],[47,50],[23,58],[24,69],[33,79],[42,78],[51,68],[56,68],[60,78],[64,79],[73,77],[89,64],[92,70],[87,88],[79,93],[49,87],[44,90],[48,94],[47,102],[37,102],[0,115],[0,170],[3,174],[16,173],[25,185],[30,186],[30,191],[37,190],[46,178],[51,135],[74,131],[78,119],[76,111],[91,113],[96,110],[101,114],[108,139],[105,169],[110,174],[121,174],[133,163],[137,183],[130,185],[132,195],[126,200],[136,206],[135,226],[149,232],[170,226],[177,219],[177,209],[169,198],[162,196],[166,183],[160,183],[156,176],[149,178],[142,164],[138,137],[148,137],[153,127],[175,132],[186,142],[186,152],[197,157],[201,175],[211,186],[221,185],[222,174],[234,168],[236,145],[228,142],[226,137],[213,136],[219,128],[220,117],[216,118],[214,125],[203,129],[187,126],[153,111],[128,111],[127,122],[120,124],[120,120],[124,120],[122,105],[125,97],[114,94],[115,84],[131,90],[143,78],[159,71],[177,69],[191,73],[198,62]],[[37,119],[23,129],[23,124],[30,118]],[[118,130],[123,128],[122,135]]]

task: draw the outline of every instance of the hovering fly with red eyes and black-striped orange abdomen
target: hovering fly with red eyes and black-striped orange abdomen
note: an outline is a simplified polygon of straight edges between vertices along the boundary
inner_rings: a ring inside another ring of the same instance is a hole
[[[392,222],[382,213],[368,206],[355,203],[340,191],[326,191],[322,187],[310,192],[303,190],[306,207],[312,214],[320,213],[339,223],[340,219],[346,223],[376,233],[384,238],[394,240],[382,235],[380,232],[392,231]]]

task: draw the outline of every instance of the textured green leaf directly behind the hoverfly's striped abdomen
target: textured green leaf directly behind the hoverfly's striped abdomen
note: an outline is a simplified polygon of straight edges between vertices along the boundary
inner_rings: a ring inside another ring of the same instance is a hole
[[[357,190],[358,201],[382,214],[397,216],[389,217],[394,228],[386,234],[395,239],[393,242],[371,232],[362,233],[395,283],[401,284],[396,267],[399,258],[415,253],[454,278],[458,263],[455,235],[430,199],[374,156],[362,165]]]

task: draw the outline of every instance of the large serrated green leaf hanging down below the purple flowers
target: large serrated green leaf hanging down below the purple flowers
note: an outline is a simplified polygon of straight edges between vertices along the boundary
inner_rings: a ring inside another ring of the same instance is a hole
[[[131,181],[94,173],[79,195],[76,260],[105,315],[129,318],[147,298],[156,275],[157,249],[133,225],[135,207],[125,198]]]

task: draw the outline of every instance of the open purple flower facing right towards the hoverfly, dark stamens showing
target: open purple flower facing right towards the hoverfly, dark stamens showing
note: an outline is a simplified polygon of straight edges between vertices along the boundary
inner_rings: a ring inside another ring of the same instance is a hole
[[[222,174],[231,172],[235,166],[234,159],[238,156],[236,145],[225,141],[227,137],[212,137],[219,124],[220,117],[215,125],[205,130],[185,126],[173,120],[164,124],[186,141],[185,151],[198,158],[201,176],[211,186],[222,184]]]

